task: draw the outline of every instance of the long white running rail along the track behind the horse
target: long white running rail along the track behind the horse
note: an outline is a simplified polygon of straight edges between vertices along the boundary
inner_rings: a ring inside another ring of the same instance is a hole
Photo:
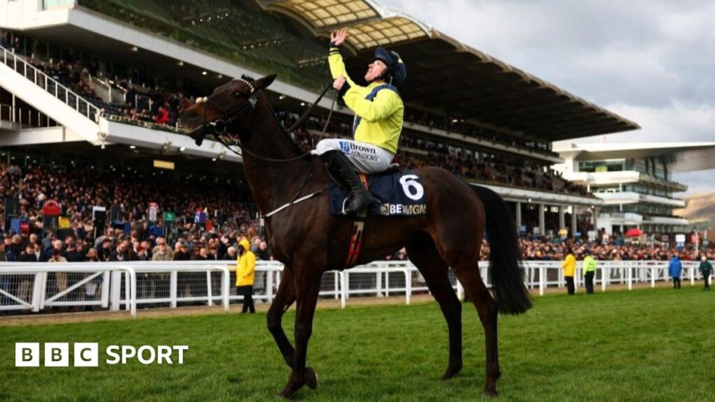
[[[479,263],[480,275],[488,283],[488,263]],[[628,290],[638,283],[651,287],[669,280],[667,261],[600,261],[594,286],[605,291],[612,285]],[[683,262],[684,278],[691,285],[700,279],[697,262]],[[275,297],[283,266],[274,261],[258,261],[255,272],[254,299],[270,303]],[[560,261],[526,261],[524,282],[543,295],[547,288],[563,288]],[[0,310],[97,306],[119,310],[124,306],[132,317],[140,307],[179,304],[221,304],[229,310],[233,301],[242,300],[236,293],[235,263],[232,261],[171,261],[123,263],[0,263]],[[463,298],[463,288],[449,273],[450,283]],[[581,263],[574,277],[576,288],[583,286]],[[424,278],[409,261],[380,261],[345,271],[323,275],[322,298],[339,299],[342,308],[347,300],[358,297],[384,298],[404,295],[410,304],[412,295],[426,294]]]

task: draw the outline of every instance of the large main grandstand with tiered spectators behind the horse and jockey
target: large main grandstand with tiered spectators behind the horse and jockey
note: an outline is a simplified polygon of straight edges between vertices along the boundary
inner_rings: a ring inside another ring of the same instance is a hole
[[[603,200],[551,170],[564,162],[551,142],[636,123],[373,1],[315,3],[0,0],[2,162],[209,177],[234,186],[229,200],[239,201],[248,194],[240,157],[177,132],[178,111],[229,77],[277,72],[269,97],[290,125],[329,82],[326,38],[346,26],[356,77],[375,46],[408,64],[403,165],[440,165],[487,185],[522,232],[594,229]],[[297,132],[303,147],[320,139],[331,102]],[[336,112],[328,134],[347,137],[352,117]]]

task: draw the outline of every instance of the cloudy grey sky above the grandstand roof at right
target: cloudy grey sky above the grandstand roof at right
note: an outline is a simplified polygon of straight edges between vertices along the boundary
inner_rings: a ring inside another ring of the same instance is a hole
[[[581,142],[715,142],[713,0],[378,2],[643,127]],[[715,170],[675,179],[715,192]]]

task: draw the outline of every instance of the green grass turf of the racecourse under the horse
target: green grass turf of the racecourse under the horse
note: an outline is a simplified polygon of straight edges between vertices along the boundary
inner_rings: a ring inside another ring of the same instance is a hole
[[[465,367],[443,382],[447,329],[435,303],[318,310],[308,364],[320,383],[297,399],[480,398],[483,333],[471,305],[463,318]],[[537,297],[526,315],[501,316],[499,334],[502,401],[715,400],[715,292]],[[15,342],[52,341],[99,342],[99,368],[14,368]],[[183,366],[109,366],[112,344],[190,349]],[[0,401],[270,401],[288,375],[264,314],[0,328]]]

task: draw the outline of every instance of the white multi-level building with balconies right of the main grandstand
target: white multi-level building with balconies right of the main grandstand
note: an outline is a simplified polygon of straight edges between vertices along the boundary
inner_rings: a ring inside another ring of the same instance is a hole
[[[673,173],[715,167],[715,142],[559,142],[554,149],[566,161],[555,167],[563,177],[603,200],[597,222],[608,234],[622,235],[633,227],[666,237],[688,232],[688,220],[674,215],[674,209],[686,206],[674,193],[688,187],[674,181]]]

